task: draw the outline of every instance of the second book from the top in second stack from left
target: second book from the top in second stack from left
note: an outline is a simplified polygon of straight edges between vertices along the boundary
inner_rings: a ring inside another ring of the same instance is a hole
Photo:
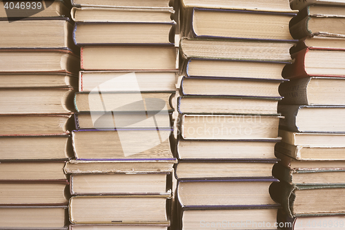
[[[72,8],[70,16],[76,22],[132,22],[158,23],[171,22],[175,10],[160,9],[130,9],[130,8],[101,8],[81,7]]]

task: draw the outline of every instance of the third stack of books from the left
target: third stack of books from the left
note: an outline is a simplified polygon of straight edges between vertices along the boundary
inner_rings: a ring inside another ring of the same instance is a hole
[[[296,12],[285,0],[181,5],[179,228],[277,229],[268,190]]]

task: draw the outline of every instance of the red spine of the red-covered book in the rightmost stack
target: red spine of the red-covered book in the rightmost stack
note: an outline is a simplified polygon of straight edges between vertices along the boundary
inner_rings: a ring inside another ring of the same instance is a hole
[[[306,73],[306,69],[304,66],[304,59],[306,57],[306,53],[308,52],[308,50],[308,48],[305,48],[304,50],[296,52],[295,55],[293,55],[293,59],[295,59],[293,64],[287,64],[282,71],[282,76],[284,78],[298,79],[303,77],[309,77],[308,73]]]

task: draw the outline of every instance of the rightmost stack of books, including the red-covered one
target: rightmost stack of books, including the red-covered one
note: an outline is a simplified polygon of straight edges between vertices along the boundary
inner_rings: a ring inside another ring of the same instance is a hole
[[[290,32],[299,43],[283,71],[290,82],[279,88],[285,119],[273,175],[281,182],[271,193],[291,229],[328,229],[345,219],[345,2],[307,3],[292,2],[299,13]]]

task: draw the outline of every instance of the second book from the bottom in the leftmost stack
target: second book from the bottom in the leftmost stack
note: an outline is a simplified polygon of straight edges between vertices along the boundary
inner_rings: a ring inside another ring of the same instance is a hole
[[[5,183],[0,186],[0,204],[6,205],[61,205],[67,204],[68,187],[58,182]]]

